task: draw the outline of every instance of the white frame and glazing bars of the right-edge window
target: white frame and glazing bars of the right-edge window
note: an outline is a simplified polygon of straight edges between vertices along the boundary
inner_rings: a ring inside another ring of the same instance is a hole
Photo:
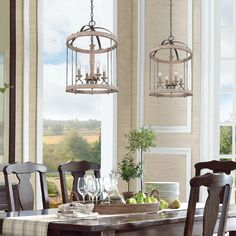
[[[232,158],[236,160],[235,128],[236,122],[220,121],[220,95],[234,92],[233,112],[236,111],[236,88],[220,88],[221,60],[228,57],[221,56],[221,7],[220,0],[201,0],[201,156],[200,161],[220,160]],[[236,22],[236,4],[234,3],[234,24]],[[234,36],[236,30],[234,30]],[[234,40],[236,37],[234,37]],[[234,41],[236,42],[236,40]],[[236,47],[234,57],[230,59],[236,63]],[[235,70],[236,71],[236,70]],[[234,75],[236,72],[234,71]],[[234,76],[235,77],[235,76]],[[234,78],[233,82],[236,80]],[[220,155],[220,127],[232,126],[232,154]],[[235,196],[236,188],[233,188]],[[231,198],[234,201],[234,198]]]

